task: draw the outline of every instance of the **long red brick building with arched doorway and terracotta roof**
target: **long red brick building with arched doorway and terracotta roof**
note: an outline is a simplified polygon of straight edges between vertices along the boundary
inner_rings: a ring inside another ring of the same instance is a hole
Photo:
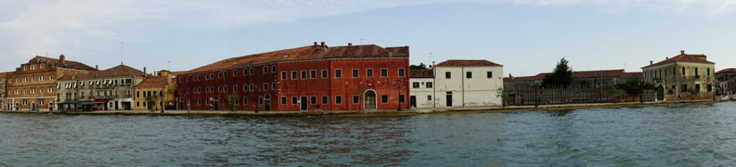
[[[177,79],[180,110],[408,108],[408,46],[304,46],[233,57]],[[401,100],[403,102],[399,103]]]

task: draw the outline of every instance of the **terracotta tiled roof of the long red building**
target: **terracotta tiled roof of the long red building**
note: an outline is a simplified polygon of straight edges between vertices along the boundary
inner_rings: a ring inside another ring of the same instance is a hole
[[[340,58],[390,58],[402,57],[408,58],[408,46],[382,48],[376,45],[359,45],[359,46],[304,46],[294,49],[284,49],[280,51],[269,51],[260,54],[250,54],[241,57],[232,57],[221,60],[216,63],[204,65],[194,68],[191,71],[181,71],[183,74],[194,74],[205,71],[215,71],[224,68],[235,68],[246,65],[258,65],[266,63],[277,63],[286,61],[299,60],[322,60],[322,59],[340,59]]]

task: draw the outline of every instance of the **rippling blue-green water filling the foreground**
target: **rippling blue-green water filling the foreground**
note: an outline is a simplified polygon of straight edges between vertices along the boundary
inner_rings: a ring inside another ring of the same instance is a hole
[[[735,166],[735,108],[344,118],[0,113],[0,166]]]

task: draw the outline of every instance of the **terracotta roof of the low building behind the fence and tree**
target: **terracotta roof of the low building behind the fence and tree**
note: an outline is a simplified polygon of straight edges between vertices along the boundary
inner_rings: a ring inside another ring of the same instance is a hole
[[[514,81],[534,81],[542,80],[546,74],[537,74],[531,77],[514,77]],[[643,72],[631,72],[627,73],[623,69],[619,70],[599,70],[599,71],[575,71],[573,72],[573,79],[585,79],[585,78],[615,78],[615,77],[644,77]],[[503,78],[503,82],[510,82],[509,77]]]

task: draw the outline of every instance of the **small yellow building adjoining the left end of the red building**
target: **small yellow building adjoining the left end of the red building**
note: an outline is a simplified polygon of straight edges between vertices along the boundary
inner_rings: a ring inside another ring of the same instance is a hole
[[[176,75],[172,74],[171,71],[158,71],[155,76],[135,85],[133,109],[150,110],[152,107],[155,110],[161,110],[161,107],[164,106],[166,110],[175,110],[174,90],[176,90],[177,85],[174,83],[173,77],[176,77]]]

